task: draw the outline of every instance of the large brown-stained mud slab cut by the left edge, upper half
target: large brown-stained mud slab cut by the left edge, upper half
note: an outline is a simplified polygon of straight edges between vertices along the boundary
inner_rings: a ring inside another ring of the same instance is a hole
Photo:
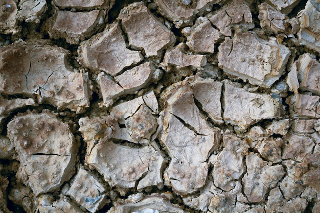
[[[67,51],[57,46],[16,42],[0,51],[0,92],[37,94],[39,103],[77,113],[89,107],[88,74],[71,71]],[[12,75],[14,73],[14,75]],[[7,82],[11,82],[10,84]]]

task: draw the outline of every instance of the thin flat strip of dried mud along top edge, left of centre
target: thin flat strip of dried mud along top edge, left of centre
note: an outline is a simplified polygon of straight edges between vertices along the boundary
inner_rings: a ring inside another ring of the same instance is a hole
[[[75,8],[75,9],[110,9],[115,3],[115,0],[91,0],[91,1],[79,1],[79,0],[54,0],[54,4],[60,8]]]

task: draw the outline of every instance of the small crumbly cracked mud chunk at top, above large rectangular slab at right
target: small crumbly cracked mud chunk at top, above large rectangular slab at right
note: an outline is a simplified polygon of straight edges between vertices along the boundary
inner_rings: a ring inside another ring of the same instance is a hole
[[[230,5],[225,5],[208,17],[211,23],[225,36],[232,35],[232,28],[236,32],[244,32],[255,27],[250,8],[242,0],[233,1]]]

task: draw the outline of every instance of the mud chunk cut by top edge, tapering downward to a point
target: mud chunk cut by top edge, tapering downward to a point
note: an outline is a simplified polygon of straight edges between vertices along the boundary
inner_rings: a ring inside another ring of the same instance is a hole
[[[191,20],[196,11],[205,7],[205,5],[212,3],[219,3],[220,0],[199,0],[199,1],[170,1],[170,0],[156,0],[155,4],[158,6],[160,12],[172,21],[177,23],[179,28],[182,21]],[[189,3],[189,4],[188,4]],[[181,23],[179,23],[179,21]]]

